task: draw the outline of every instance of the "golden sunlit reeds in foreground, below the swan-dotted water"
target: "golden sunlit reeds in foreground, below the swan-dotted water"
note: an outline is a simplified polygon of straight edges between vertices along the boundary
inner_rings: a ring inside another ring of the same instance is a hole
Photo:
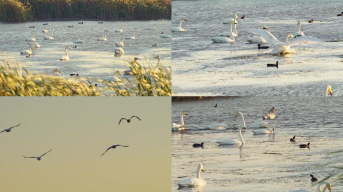
[[[0,96],[171,96],[171,71],[168,67],[147,68],[127,63],[133,80],[115,75],[121,81],[90,78],[64,78],[43,73],[31,73],[16,64],[0,65]],[[101,86],[95,86],[90,81]]]

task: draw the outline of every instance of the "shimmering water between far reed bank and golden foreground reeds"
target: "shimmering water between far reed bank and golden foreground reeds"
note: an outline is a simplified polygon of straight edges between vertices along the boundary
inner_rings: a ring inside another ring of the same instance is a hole
[[[58,68],[63,76],[79,73],[83,77],[103,80],[113,80],[114,71],[126,70],[125,61],[133,57],[141,58],[141,64],[146,64],[147,58],[155,66],[157,60],[153,57],[159,55],[163,66],[170,65],[171,39],[159,36],[162,31],[170,33],[170,20],[103,21],[102,24],[98,21],[83,21],[83,24],[78,24],[78,21],[48,21],[48,25],[43,23],[46,22],[0,23],[0,60],[10,61],[11,64],[21,63],[29,71],[53,74],[54,69]],[[145,30],[153,24],[157,25],[155,31]],[[35,28],[29,28],[33,25]],[[115,32],[121,25],[125,27],[124,32]],[[42,32],[44,27],[48,28],[48,33]],[[120,41],[122,36],[133,36],[135,27],[138,29],[136,39],[124,39],[125,46],[122,48],[125,53],[115,57],[115,42]],[[53,28],[55,40],[44,40],[44,36],[51,36]],[[108,40],[98,41],[98,38],[104,36],[104,29],[109,30]],[[34,31],[38,32],[36,39],[41,48],[36,48],[33,56],[27,58],[20,51],[28,49],[29,43],[25,39],[32,37]],[[84,43],[72,42],[78,38],[84,40]],[[59,58],[65,55],[65,47],[75,45],[77,48],[68,51],[70,60],[60,61]]]

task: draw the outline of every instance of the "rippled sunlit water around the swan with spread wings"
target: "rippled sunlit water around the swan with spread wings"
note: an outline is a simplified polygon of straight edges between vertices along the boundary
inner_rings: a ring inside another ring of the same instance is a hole
[[[211,38],[229,31],[224,18],[234,12],[238,36],[234,43],[213,43]],[[269,56],[248,43],[250,28],[262,24],[280,41],[297,31],[302,20],[305,35],[323,41],[343,40],[341,0],[176,0],[172,25],[182,17],[186,32],[173,32],[174,95],[322,95],[331,84],[335,95],[343,94],[343,42],[298,44],[293,54]],[[313,23],[308,20],[313,19]],[[279,68],[267,63],[279,61]]]

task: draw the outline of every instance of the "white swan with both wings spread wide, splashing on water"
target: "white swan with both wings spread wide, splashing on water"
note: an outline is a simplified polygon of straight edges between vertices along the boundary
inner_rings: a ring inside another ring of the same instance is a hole
[[[274,46],[274,49],[269,53],[272,55],[284,55],[291,53],[290,46],[299,43],[315,43],[321,40],[311,36],[299,36],[291,41],[288,40],[292,34],[288,34],[286,42],[280,42],[272,33],[266,30],[250,29],[251,32],[261,35],[269,44]]]

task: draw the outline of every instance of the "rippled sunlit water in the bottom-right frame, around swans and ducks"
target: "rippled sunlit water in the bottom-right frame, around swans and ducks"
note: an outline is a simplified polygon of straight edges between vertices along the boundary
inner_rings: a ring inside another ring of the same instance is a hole
[[[180,113],[189,112],[185,124],[205,128],[222,122],[227,129],[189,130],[171,135],[173,191],[256,191],[275,192],[291,189],[316,191],[310,174],[323,179],[341,173],[333,166],[341,166],[340,150],[343,145],[341,97],[218,97],[203,100],[173,101],[173,122],[180,123]],[[218,107],[214,107],[215,103]],[[219,146],[224,138],[238,139],[237,127],[241,111],[249,124],[262,120],[275,106],[277,117],[267,120],[276,125],[275,133],[254,135],[252,128],[243,131],[242,146]],[[289,139],[296,135],[296,142]],[[193,148],[193,143],[204,142],[204,148]],[[299,144],[311,143],[310,148]],[[274,152],[282,154],[263,154]],[[202,177],[207,185],[198,188],[178,189],[177,181],[196,175],[197,163],[203,163]],[[334,191],[343,191],[343,182],[329,179]]]

